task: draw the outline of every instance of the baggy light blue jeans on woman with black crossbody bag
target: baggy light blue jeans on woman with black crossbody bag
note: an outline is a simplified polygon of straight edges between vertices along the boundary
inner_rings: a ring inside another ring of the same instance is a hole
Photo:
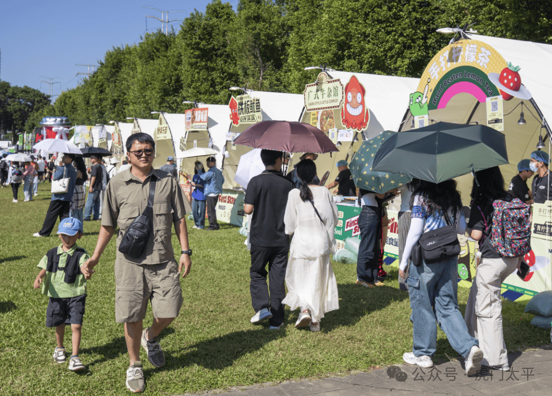
[[[458,310],[458,257],[420,267],[410,266],[406,278],[410,295],[410,320],[413,325],[412,352],[415,356],[431,356],[437,350],[437,324],[445,332],[460,355],[467,357],[479,342],[470,336]],[[437,323],[436,323],[437,320]]]

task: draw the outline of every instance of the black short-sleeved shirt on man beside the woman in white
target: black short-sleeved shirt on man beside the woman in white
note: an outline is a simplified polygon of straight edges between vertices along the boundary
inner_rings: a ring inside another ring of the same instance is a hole
[[[245,193],[244,203],[253,205],[249,240],[255,246],[287,246],[284,214],[293,183],[278,171],[254,176]]]

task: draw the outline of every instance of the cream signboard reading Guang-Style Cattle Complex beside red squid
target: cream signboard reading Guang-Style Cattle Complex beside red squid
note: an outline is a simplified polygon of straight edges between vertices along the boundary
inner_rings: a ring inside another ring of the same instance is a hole
[[[307,112],[338,109],[343,103],[343,84],[339,78],[330,80],[330,77],[322,72],[314,83],[305,86],[303,96]]]

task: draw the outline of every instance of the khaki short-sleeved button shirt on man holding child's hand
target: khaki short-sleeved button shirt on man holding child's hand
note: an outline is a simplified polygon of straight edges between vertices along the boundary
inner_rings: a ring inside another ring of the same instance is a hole
[[[184,218],[192,207],[184,197],[177,179],[166,172],[152,169],[143,183],[130,170],[115,175],[105,191],[102,225],[113,228],[119,226],[116,242],[118,248],[126,229],[147,206],[152,175],[157,177],[157,183],[153,198],[153,232],[147,242],[146,251],[139,258],[134,258],[117,249],[118,261],[153,265],[174,260],[171,241],[173,223]]]

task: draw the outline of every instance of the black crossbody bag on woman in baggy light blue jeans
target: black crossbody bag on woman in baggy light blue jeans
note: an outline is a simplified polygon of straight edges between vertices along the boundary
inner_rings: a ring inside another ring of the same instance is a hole
[[[454,213],[454,219],[456,219],[456,213]],[[447,220],[448,216],[445,216],[446,223],[448,223]],[[410,260],[416,267],[420,267],[423,261],[426,264],[434,264],[459,254],[460,241],[458,241],[456,225],[453,223],[423,233],[412,247]]]

